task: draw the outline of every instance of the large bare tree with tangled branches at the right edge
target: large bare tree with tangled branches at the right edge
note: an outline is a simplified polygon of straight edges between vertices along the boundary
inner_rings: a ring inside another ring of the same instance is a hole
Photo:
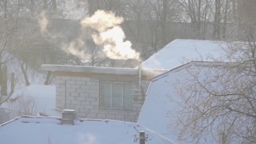
[[[219,62],[189,67],[187,80],[176,83],[181,139],[256,142],[256,21],[240,19]]]

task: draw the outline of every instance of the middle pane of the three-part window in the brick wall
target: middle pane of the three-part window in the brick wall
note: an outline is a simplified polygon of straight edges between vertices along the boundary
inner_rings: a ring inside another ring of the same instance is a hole
[[[123,84],[113,83],[113,107],[122,108],[123,107]]]

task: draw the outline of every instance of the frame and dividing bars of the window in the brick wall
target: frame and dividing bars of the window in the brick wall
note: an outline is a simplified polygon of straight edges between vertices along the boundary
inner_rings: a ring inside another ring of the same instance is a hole
[[[111,100],[111,107],[102,107],[102,104],[101,104],[101,84],[102,82],[111,82],[111,97],[110,97],[110,100]],[[117,108],[117,107],[113,107],[113,83],[121,83],[123,85],[122,87],[122,108]],[[131,85],[133,85],[133,81],[116,81],[116,80],[100,80],[99,81],[99,108],[100,109],[109,109],[109,110],[127,110],[127,111],[132,111],[133,110],[133,107],[132,107],[132,94],[131,94],[131,107],[130,108],[124,108],[124,103],[125,103],[125,94],[124,94],[124,84],[125,83],[131,83]]]

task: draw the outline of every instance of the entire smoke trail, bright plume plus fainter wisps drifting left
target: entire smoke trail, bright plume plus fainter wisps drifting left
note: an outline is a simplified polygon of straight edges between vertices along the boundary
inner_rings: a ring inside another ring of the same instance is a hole
[[[52,39],[61,39],[61,35],[47,31],[48,20],[45,12],[40,14],[38,23],[40,24],[42,34],[48,35]],[[86,60],[90,53],[86,53],[85,40],[92,39],[97,46],[103,48],[103,53],[109,59],[139,59],[140,55],[131,48],[131,42],[125,40],[125,34],[120,26],[122,23],[122,17],[116,17],[112,12],[98,10],[93,16],[80,21],[80,36],[70,43],[61,43],[61,48],[67,53]]]

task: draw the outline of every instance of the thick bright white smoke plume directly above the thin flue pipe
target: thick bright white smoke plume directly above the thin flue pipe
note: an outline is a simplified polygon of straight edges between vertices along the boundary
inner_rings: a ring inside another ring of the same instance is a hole
[[[91,35],[96,45],[102,46],[110,59],[139,59],[139,53],[131,48],[131,42],[125,40],[125,34],[120,24],[123,18],[114,13],[102,10],[81,21],[82,27],[94,30]]]

